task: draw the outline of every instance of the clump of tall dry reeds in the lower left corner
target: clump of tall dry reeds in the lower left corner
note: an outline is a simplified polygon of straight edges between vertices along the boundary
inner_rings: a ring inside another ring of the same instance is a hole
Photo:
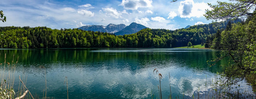
[[[0,57],[1,57],[1,53],[0,53]],[[16,71],[16,66],[18,64],[18,60],[19,60],[19,57],[18,57],[16,62],[14,62],[14,57],[15,57],[15,54],[13,54],[13,56],[12,56],[12,61],[7,62],[6,53],[5,53],[4,62],[3,63],[0,62],[0,68],[1,68],[0,99],[14,99],[15,91],[14,91],[13,87],[14,87],[14,81],[15,81],[15,71]],[[22,83],[22,85],[20,86],[20,82],[19,82],[18,92],[16,94],[17,98],[15,98],[15,99],[21,99],[26,95],[27,92],[29,92],[29,90],[25,91],[27,77],[25,78],[24,71],[23,71],[23,75],[22,75],[22,80],[21,80],[20,76],[19,76],[19,80]],[[22,92],[24,92],[24,93],[22,94]],[[30,95],[31,95],[31,93],[30,93]],[[32,95],[31,95],[31,97],[33,98]]]

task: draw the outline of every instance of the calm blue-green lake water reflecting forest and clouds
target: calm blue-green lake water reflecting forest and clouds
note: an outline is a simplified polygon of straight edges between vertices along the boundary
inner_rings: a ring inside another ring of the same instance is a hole
[[[0,63],[19,56],[15,71],[14,90],[18,91],[19,75],[27,77],[26,86],[34,96],[42,98],[45,90],[46,68],[47,96],[55,99],[159,99],[157,68],[162,74],[163,99],[172,96],[188,98],[200,88],[210,88],[217,72],[228,62],[224,59],[209,67],[207,61],[216,57],[216,51],[207,49],[0,49]],[[3,72],[3,66],[1,66]],[[4,71],[7,72],[7,71]],[[170,78],[169,79],[169,73]],[[207,76],[207,77],[206,77]],[[205,86],[207,78],[207,86]],[[252,90],[246,82],[242,88]],[[27,95],[28,96],[28,95]]]

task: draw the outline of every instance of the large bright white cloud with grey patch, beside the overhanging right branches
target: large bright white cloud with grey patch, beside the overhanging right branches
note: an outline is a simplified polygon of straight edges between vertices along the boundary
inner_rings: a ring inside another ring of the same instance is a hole
[[[180,6],[178,11],[180,13],[180,17],[182,18],[190,18],[190,17],[202,17],[205,14],[205,9],[210,9],[208,4],[202,3],[194,3],[193,0],[185,0],[180,2]]]

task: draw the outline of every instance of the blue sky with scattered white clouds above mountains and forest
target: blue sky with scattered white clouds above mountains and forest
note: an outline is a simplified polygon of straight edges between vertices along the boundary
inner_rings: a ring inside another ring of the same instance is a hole
[[[3,0],[7,22],[0,26],[47,26],[53,29],[84,25],[125,24],[148,28],[179,29],[208,24],[207,3],[217,0]]]

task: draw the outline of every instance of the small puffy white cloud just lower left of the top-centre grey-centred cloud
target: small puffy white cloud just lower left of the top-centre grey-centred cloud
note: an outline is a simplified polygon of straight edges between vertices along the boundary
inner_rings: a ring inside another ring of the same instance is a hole
[[[108,16],[112,16],[114,18],[119,18],[121,17],[122,13],[121,12],[118,12],[116,9],[114,8],[102,8],[102,10],[104,12],[106,12],[106,15]]]

